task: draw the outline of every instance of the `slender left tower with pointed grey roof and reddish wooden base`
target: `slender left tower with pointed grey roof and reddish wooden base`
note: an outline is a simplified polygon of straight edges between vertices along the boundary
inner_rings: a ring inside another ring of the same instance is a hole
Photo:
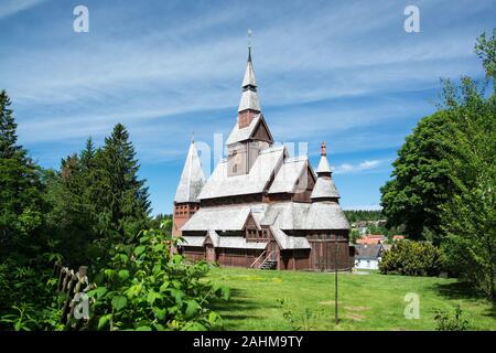
[[[172,235],[181,235],[181,227],[200,207],[197,199],[203,185],[205,176],[203,174],[202,164],[196,151],[194,140],[191,141],[187,151],[186,161],[184,162],[183,172],[175,191],[174,214],[172,224]]]

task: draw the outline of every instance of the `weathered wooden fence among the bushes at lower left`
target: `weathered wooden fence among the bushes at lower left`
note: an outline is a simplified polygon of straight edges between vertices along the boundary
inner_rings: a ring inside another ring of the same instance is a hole
[[[55,278],[58,278],[57,292],[64,298],[61,317],[61,322],[63,324],[72,325],[72,319],[75,318],[74,312],[78,304],[75,300],[76,295],[85,293],[96,287],[94,284],[89,284],[87,272],[87,266],[79,266],[79,269],[74,271],[68,267],[62,266],[58,261],[54,264],[54,276]],[[80,327],[85,322],[86,319],[77,320],[76,325]],[[74,328],[76,328],[76,325],[74,325]]]

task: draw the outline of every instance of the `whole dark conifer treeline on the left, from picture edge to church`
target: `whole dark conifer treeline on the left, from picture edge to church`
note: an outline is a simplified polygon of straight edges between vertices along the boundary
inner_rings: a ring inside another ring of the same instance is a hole
[[[0,330],[53,330],[60,308],[50,281],[55,260],[93,274],[112,264],[115,247],[139,243],[141,229],[171,228],[150,216],[145,181],[129,132],[118,124],[101,147],[45,170],[18,143],[11,100],[0,92]],[[111,308],[110,308],[111,309]]]

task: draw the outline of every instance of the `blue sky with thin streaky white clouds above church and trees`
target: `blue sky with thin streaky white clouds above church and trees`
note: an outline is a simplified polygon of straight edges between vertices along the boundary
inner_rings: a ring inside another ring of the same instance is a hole
[[[73,31],[78,4],[88,33]],[[409,4],[420,33],[403,30]],[[308,142],[313,165],[325,140],[342,205],[377,208],[439,78],[483,77],[473,45],[495,23],[496,0],[0,0],[0,88],[46,168],[125,124],[153,213],[169,213],[191,133],[213,145],[236,121],[251,29],[274,139]]]

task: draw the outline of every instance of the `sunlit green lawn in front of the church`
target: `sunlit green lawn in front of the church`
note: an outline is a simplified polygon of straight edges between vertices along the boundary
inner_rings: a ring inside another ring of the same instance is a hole
[[[335,325],[334,274],[213,268],[209,278],[231,289],[229,302],[215,303],[226,330],[291,330],[278,299],[302,330],[435,330],[435,309],[457,303],[471,330],[496,329],[492,306],[454,279],[339,274]],[[409,292],[419,295],[420,319],[405,318]]]

